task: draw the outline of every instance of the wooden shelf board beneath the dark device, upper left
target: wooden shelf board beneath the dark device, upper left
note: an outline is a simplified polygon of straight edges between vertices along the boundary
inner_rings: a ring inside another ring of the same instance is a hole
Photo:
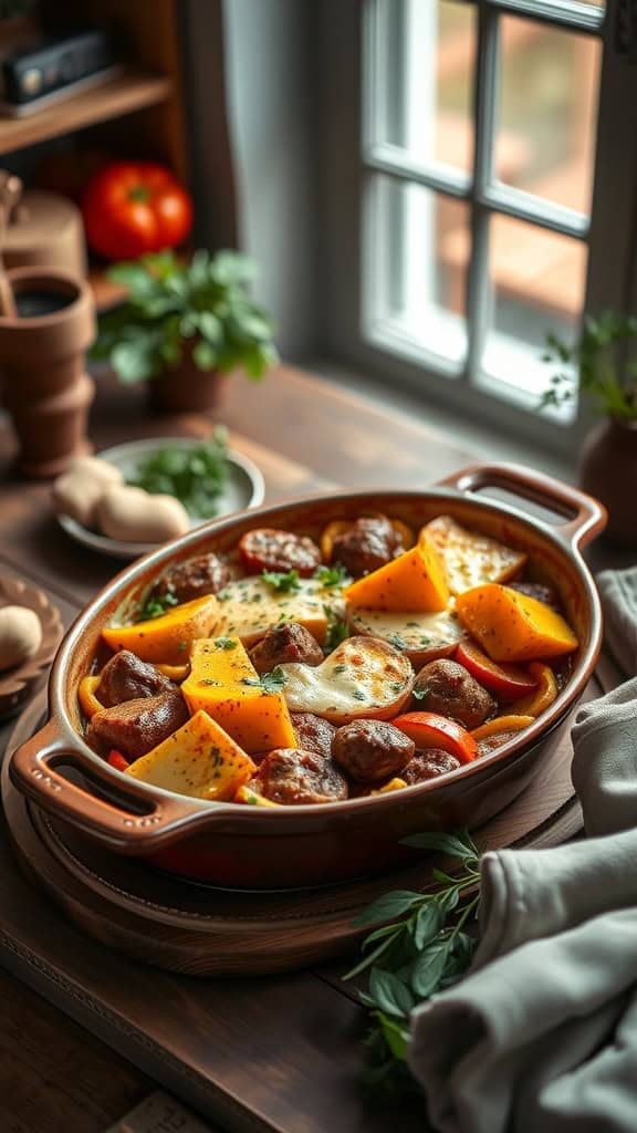
[[[172,93],[173,80],[167,76],[126,71],[31,117],[0,119],[0,154],[158,105]]]

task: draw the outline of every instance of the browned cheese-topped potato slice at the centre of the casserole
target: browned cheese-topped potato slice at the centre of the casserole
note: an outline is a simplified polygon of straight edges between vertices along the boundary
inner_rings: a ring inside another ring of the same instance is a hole
[[[291,712],[311,712],[334,724],[390,719],[411,696],[414,670],[398,649],[371,637],[351,637],[322,665],[280,666]]]

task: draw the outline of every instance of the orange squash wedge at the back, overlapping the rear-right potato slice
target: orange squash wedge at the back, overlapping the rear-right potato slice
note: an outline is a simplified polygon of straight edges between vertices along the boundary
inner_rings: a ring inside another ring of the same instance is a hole
[[[347,586],[343,597],[349,606],[427,613],[447,607],[449,588],[435,547],[421,538],[410,551]]]

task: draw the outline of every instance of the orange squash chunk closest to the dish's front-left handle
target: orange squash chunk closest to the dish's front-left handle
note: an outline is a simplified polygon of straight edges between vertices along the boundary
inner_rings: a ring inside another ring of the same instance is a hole
[[[126,775],[165,791],[210,801],[232,800],[256,770],[252,759],[205,712],[136,759]]]

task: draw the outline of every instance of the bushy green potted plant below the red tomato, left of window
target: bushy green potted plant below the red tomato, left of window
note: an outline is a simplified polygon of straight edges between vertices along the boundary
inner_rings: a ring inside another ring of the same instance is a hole
[[[151,401],[171,412],[218,404],[221,375],[240,368],[258,381],[278,361],[270,316],[252,301],[255,267],[238,252],[171,252],[116,264],[109,278],[126,301],[100,320],[93,358],[121,382],[151,380]]]

